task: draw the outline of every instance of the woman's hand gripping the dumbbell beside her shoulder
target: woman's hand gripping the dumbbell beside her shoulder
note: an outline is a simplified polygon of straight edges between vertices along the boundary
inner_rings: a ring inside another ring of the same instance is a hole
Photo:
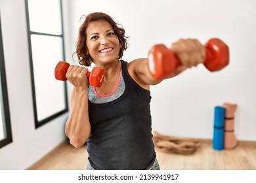
[[[77,65],[70,65],[66,73],[66,78],[73,84],[76,91],[85,90],[88,88],[89,81],[87,79],[88,68]]]

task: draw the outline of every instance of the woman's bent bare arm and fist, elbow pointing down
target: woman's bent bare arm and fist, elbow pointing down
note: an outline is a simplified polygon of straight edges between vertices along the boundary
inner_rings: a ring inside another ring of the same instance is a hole
[[[85,144],[91,133],[91,124],[88,114],[88,69],[70,67],[66,77],[74,85],[70,98],[70,115],[65,125],[66,136],[70,144],[79,148]]]

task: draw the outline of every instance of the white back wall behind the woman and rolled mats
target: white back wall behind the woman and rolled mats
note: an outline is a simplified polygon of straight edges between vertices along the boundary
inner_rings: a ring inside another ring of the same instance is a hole
[[[72,2],[72,41],[82,14],[106,12],[130,36],[123,56],[126,61],[146,57],[156,43],[170,45],[180,38],[205,43],[221,38],[230,47],[228,67],[210,73],[200,65],[152,86],[153,128],[167,135],[211,139],[214,107],[232,102],[238,103],[236,136],[256,141],[256,1]]]

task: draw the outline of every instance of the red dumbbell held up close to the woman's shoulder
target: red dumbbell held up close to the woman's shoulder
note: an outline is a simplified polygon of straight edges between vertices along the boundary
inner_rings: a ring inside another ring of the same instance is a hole
[[[70,67],[69,63],[66,63],[65,61],[58,62],[54,71],[56,80],[67,80],[66,73],[68,71],[68,67]],[[93,67],[92,71],[87,72],[86,76],[91,86],[100,87],[104,79],[104,70],[100,67]]]

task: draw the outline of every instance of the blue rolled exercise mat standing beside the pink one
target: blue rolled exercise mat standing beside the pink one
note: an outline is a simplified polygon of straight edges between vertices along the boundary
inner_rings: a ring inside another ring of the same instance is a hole
[[[225,108],[217,106],[214,108],[213,127],[213,149],[223,150],[224,148],[224,119]]]

